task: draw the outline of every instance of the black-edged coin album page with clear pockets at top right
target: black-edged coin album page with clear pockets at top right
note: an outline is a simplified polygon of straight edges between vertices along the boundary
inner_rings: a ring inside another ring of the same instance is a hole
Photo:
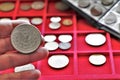
[[[64,0],[95,27],[120,39],[119,0]]]

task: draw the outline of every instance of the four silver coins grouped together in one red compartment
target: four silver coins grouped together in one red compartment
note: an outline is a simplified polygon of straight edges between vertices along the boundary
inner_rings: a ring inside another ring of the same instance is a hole
[[[69,50],[71,48],[72,36],[67,34],[61,34],[58,36],[59,43],[56,42],[56,35],[45,35],[45,47],[49,51],[54,51],[60,48],[61,50]]]

